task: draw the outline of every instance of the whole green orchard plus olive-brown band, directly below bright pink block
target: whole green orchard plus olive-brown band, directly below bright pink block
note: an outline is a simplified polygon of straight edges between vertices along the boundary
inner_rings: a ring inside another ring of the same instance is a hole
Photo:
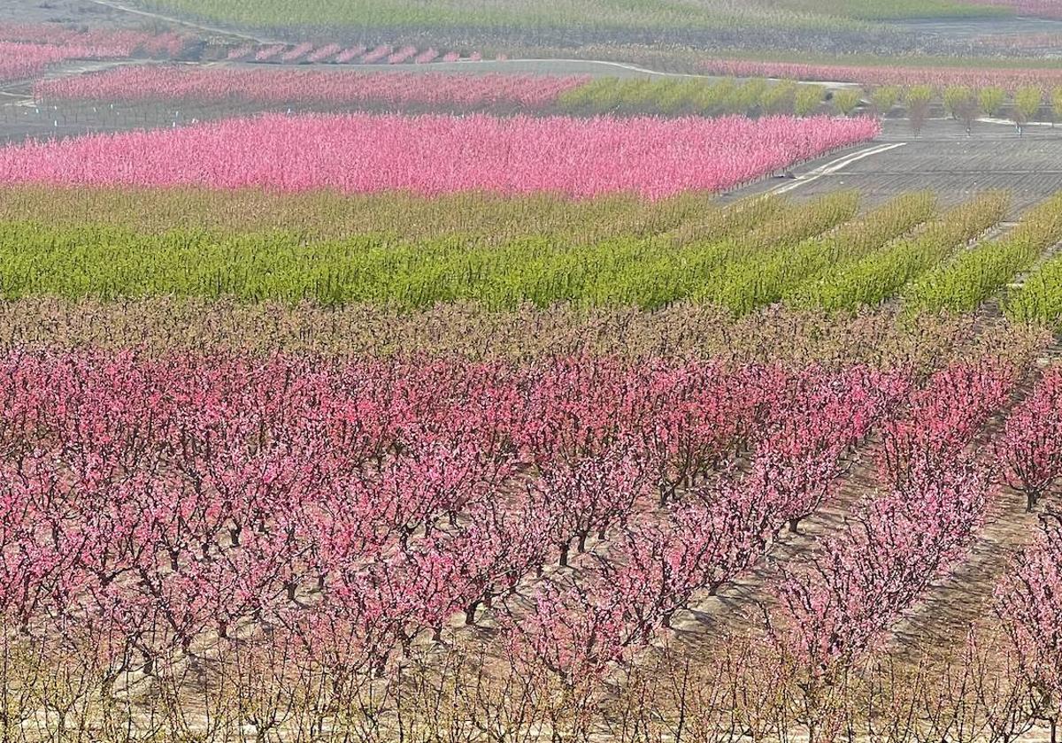
[[[1008,197],[999,192],[942,215],[929,193],[859,214],[853,191],[727,207],[706,198],[647,205],[467,196],[463,215],[452,198],[400,195],[143,192],[140,211],[118,190],[56,190],[34,204],[35,195],[0,191],[5,299],[227,296],[404,312],[451,301],[492,310],[691,301],[742,315],[778,300],[837,312],[903,294],[910,309],[962,311],[1062,235],[1060,195],[1004,239],[962,250],[1003,219]],[[286,213],[293,229],[277,228]],[[85,221],[89,214],[96,221]],[[204,227],[190,226],[196,223]],[[1057,295],[1050,265],[1009,300],[1014,316],[1058,316],[1049,309]]]

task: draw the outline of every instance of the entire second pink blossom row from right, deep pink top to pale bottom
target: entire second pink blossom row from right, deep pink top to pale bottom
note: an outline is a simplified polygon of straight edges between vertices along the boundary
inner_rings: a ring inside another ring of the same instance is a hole
[[[989,364],[938,373],[884,431],[884,491],[860,503],[813,560],[783,568],[776,637],[810,674],[828,677],[879,644],[962,556],[992,482],[965,448],[1013,385],[1009,369]]]

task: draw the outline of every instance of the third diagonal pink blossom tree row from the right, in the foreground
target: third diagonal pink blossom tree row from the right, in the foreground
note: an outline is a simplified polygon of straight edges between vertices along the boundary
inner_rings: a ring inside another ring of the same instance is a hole
[[[582,551],[586,531],[599,525],[603,533],[612,519],[620,522],[621,539],[592,577],[539,589],[531,608],[502,615],[517,662],[531,672],[537,661],[570,682],[598,678],[648,644],[698,592],[714,595],[749,570],[787,525],[794,529],[832,495],[845,471],[844,457],[903,400],[910,380],[859,368],[825,376],[809,369],[765,387],[775,392],[755,405],[764,414],[756,422],[763,434],[748,472],[733,466],[715,472],[684,493],[663,521],[635,513],[650,477],[630,464],[614,468],[626,482],[599,488],[603,497],[596,502],[581,499],[586,505],[577,513],[597,514],[598,520],[583,531],[573,520],[564,538],[575,531]],[[729,431],[736,442],[737,427]],[[617,498],[620,493],[626,499]],[[604,507],[595,508],[598,503]],[[546,500],[534,511],[549,508]],[[561,554],[566,565],[567,541]]]

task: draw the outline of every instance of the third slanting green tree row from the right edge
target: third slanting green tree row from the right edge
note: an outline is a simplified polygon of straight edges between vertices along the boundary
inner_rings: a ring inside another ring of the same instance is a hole
[[[917,237],[854,262],[842,257],[839,263],[786,292],[785,300],[794,307],[827,311],[879,305],[999,222],[1009,202],[1005,193],[981,194],[952,209]]]

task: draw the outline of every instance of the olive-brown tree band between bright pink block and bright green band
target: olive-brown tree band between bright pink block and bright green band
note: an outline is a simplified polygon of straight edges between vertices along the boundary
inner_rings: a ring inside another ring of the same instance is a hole
[[[304,241],[352,235],[430,240],[463,235],[483,244],[527,235],[586,243],[617,236],[660,235],[699,224],[714,227],[722,211],[706,193],[658,202],[631,195],[571,200],[538,193],[507,196],[452,193],[421,196],[390,192],[341,195],[331,191],[276,193],[261,189],[194,187],[0,187],[0,220],[84,226],[120,225],[135,231],[168,229],[216,234],[284,231]],[[781,208],[780,200],[775,207]],[[774,208],[760,205],[758,212]]]

